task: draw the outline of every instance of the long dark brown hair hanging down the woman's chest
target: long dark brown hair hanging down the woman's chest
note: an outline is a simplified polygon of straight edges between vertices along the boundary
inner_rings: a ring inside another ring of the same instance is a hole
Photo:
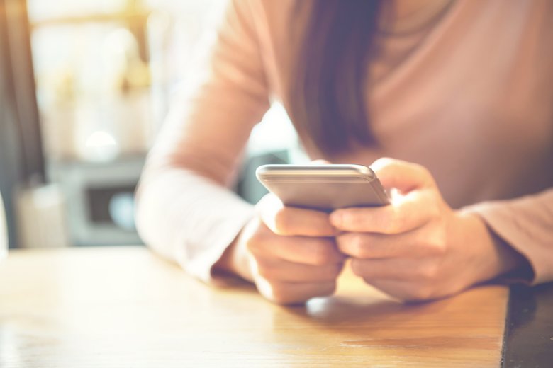
[[[290,84],[294,122],[326,154],[374,144],[366,86],[381,0],[298,0],[296,11],[307,3]]]

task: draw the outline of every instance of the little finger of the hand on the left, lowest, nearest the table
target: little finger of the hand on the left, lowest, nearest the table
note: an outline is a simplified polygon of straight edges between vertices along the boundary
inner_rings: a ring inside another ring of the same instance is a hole
[[[258,277],[255,284],[259,292],[267,299],[277,304],[300,304],[314,297],[332,295],[336,282],[269,282]]]

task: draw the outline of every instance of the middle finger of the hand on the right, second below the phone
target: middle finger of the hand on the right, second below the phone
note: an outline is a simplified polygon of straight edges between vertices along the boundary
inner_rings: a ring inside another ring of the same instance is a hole
[[[420,258],[441,255],[445,251],[445,234],[427,230],[424,226],[406,233],[385,235],[376,233],[343,233],[336,237],[338,249],[353,258]]]

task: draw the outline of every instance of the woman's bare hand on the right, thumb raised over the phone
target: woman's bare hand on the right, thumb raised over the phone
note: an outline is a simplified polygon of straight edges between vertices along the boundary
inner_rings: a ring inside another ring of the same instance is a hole
[[[496,241],[476,215],[454,211],[425,168],[380,159],[371,166],[391,205],[338,209],[340,251],[365,282],[404,300],[445,297],[515,268],[518,253]]]

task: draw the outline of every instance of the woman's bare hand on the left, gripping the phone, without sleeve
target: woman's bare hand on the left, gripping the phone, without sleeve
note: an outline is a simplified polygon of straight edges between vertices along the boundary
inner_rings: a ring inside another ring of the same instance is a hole
[[[325,212],[285,207],[272,194],[226,252],[225,268],[255,282],[277,304],[298,304],[333,294],[345,256]]]

